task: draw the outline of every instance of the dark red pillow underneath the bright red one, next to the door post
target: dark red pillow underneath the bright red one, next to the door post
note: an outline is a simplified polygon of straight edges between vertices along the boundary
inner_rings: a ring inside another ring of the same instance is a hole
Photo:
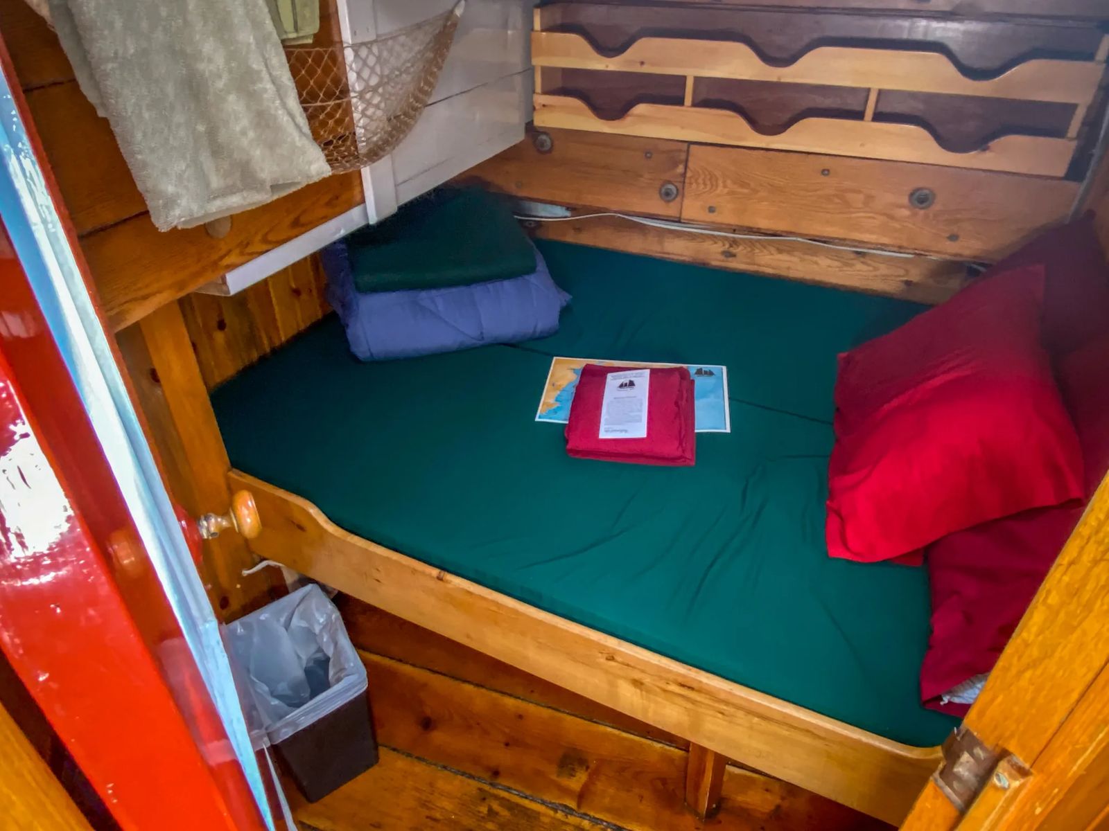
[[[1107,376],[1109,330],[1059,363],[1059,386],[1082,448],[1087,496],[1109,470]],[[943,695],[994,668],[1082,510],[1083,504],[1075,502],[1026,511],[950,534],[928,547],[933,612],[920,667],[925,706],[965,715],[967,705],[944,702]]]

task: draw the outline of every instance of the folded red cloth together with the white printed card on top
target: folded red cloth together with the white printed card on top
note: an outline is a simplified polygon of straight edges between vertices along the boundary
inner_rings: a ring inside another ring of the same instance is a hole
[[[693,416],[693,379],[685,367],[587,363],[570,406],[566,452],[578,459],[690,465]]]

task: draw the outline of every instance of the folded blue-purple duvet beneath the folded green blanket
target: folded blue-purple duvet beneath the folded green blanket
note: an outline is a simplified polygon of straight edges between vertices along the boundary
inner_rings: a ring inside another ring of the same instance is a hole
[[[558,331],[570,301],[536,252],[536,271],[471,286],[375,291],[355,289],[344,240],[321,252],[327,301],[346,330],[350,351],[364,361],[415,358],[487,343],[516,343]]]

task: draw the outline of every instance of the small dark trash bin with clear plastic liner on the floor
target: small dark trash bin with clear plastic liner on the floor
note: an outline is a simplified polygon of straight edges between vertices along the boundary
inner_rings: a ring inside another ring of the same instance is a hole
[[[230,624],[231,655],[268,745],[309,802],[377,762],[366,667],[338,609],[308,585]]]

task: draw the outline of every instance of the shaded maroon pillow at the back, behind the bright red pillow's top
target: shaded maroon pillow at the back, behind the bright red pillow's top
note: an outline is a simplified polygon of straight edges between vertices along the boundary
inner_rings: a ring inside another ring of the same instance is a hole
[[[1062,356],[1102,331],[1109,320],[1109,264],[1098,242],[1093,214],[1052,228],[988,273],[1044,267],[1044,343]]]

